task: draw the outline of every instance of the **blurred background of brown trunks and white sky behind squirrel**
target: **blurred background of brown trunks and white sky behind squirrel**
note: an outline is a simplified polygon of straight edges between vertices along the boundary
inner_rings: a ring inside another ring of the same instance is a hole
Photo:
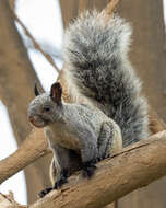
[[[45,91],[49,91],[59,76],[63,65],[63,32],[69,22],[84,9],[102,10],[108,2],[0,0],[0,160],[14,152],[31,131],[26,111],[34,97],[35,80],[40,82]],[[121,0],[118,13],[132,24],[130,59],[143,79],[144,93],[151,106],[166,122],[165,7],[166,0]],[[10,24],[11,30],[7,31],[7,25]],[[12,43],[13,35],[16,36],[15,45]],[[17,47],[21,55],[15,49]],[[1,56],[3,51],[5,56]],[[50,158],[48,155],[39,159],[24,172],[7,180],[0,185],[0,192],[7,194],[12,190],[19,203],[33,203],[37,193],[50,185]],[[166,178],[159,180],[131,193],[110,207],[166,207],[165,186]]]

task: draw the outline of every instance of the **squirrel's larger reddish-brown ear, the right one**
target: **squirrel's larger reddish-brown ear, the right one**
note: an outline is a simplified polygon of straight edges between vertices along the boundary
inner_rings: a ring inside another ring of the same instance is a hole
[[[54,83],[50,89],[50,97],[58,105],[61,104],[61,94],[62,94],[61,84],[59,82]]]

